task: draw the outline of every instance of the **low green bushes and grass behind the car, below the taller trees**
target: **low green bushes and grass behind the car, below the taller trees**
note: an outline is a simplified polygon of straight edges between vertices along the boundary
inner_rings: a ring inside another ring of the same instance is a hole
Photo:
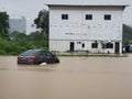
[[[31,48],[47,50],[47,35],[33,32],[29,35],[25,33],[14,32],[9,35],[10,41],[0,37],[0,55],[19,55]]]

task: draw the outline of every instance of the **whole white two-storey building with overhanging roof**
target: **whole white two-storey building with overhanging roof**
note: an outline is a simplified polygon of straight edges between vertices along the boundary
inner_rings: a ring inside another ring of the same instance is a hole
[[[122,53],[127,6],[47,4],[50,51]]]

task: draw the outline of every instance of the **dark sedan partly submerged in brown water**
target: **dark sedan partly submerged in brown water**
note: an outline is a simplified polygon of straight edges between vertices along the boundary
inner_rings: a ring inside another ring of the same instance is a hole
[[[51,52],[43,50],[29,50],[18,57],[18,64],[59,63],[59,59]]]

